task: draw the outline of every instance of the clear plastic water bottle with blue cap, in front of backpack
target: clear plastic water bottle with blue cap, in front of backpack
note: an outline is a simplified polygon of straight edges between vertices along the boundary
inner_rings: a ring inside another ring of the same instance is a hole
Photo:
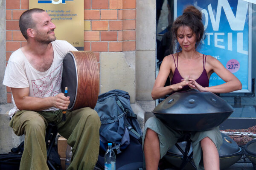
[[[112,143],[108,143],[108,149],[104,156],[105,170],[116,170],[116,154],[112,149]]]

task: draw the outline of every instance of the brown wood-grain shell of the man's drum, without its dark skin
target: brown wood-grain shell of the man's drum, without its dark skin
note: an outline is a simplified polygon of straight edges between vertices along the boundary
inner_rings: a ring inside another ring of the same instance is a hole
[[[69,51],[76,69],[76,94],[68,110],[94,108],[99,95],[99,69],[92,51]],[[66,54],[66,55],[67,55]]]

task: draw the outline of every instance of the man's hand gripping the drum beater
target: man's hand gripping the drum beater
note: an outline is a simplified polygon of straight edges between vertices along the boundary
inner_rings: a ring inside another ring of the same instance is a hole
[[[56,96],[52,97],[52,103],[55,108],[65,110],[70,104],[70,96],[66,97],[64,96],[64,93],[57,94]]]

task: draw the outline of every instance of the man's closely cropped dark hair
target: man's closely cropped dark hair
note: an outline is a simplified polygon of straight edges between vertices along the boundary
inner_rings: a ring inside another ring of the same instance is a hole
[[[21,14],[20,16],[20,20],[19,20],[19,27],[20,27],[20,31],[22,33],[22,35],[28,39],[28,35],[27,35],[27,29],[28,28],[35,28],[35,22],[32,19],[32,14],[33,13],[40,13],[40,12],[44,12],[43,9],[39,9],[39,8],[33,8],[33,9],[29,9],[25,12],[23,12],[23,14]]]

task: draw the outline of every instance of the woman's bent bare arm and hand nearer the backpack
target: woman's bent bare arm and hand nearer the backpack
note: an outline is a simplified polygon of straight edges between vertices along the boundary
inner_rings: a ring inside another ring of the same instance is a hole
[[[175,85],[169,85],[164,87],[166,80],[168,79],[169,74],[172,71],[172,63],[173,63],[173,58],[171,55],[166,56],[163,59],[159,73],[154,82],[154,87],[151,92],[152,99],[160,99],[172,93],[173,91],[178,91],[182,89],[185,85],[189,84],[189,81],[182,81]]]

